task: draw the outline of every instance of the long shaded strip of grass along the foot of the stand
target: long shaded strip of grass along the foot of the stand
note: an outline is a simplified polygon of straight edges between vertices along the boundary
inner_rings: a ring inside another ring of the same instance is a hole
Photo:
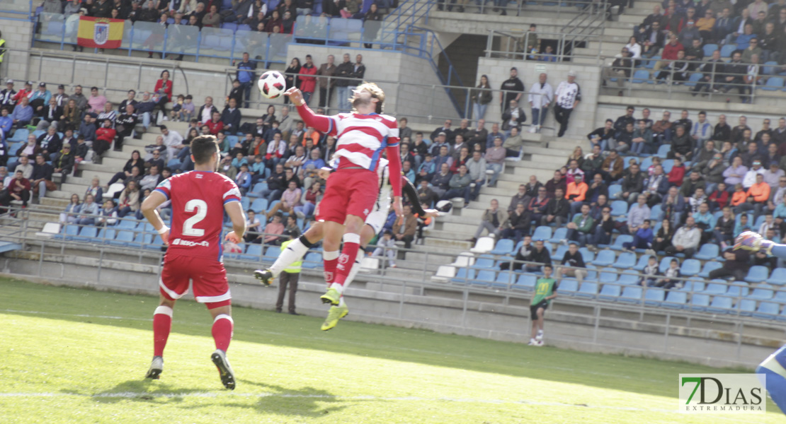
[[[158,303],[157,299],[150,296],[56,288],[23,281],[0,280],[0,291],[6,297],[6,304],[13,305],[13,308],[9,309],[20,315],[29,314],[31,317],[147,331],[152,327],[151,321],[141,321],[141,318],[152,317],[152,311]],[[19,312],[22,310],[29,310],[30,313]],[[181,301],[175,310],[173,332],[210,336],[210,319],[203,305]],[[80,317],[79,314],[92,316]],[[323,350],[665,397],[674,397],[674,382],[677,381],[679,373],[718,371],[717,368],[695,364],[549,347],[532,348],[518,343],[350,321],[342,321],[331,332],[321,332],[319,325],[322,319],[318,317],[294,317],[241,307],[233,308],[233,318],[234,339],[244,342]],[[147,387],[145,384],[144,381],[131,380],[119,385],[116,390],[143,391]],[[274,386],[270,386],[270,389],[284,390]],[[303,391],[320,394],[319,390],[311,388],[304,388]],[[330,395],[325,393],[325,396],[325,399],[329,399]],[[303,401],[303,397],[292,399]],[[112,399],[101,401],[111,402]],[[317,401],[321,400],[309,400],[312,404]],[[259,401],[259,408],[286,409],[278,406],[281,402],[281,397],[263,397]],[[318,411],[314,405],[307,409]]]

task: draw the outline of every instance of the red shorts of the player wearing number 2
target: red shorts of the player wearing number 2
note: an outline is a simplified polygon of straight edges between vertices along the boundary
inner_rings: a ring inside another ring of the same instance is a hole
[[[170,300],[180,299],[188,293],[189,284],[193,288],[196,302],[229,305],[232,299],[224,264],[215,259],[167,254],[163,259],[163,270],[158,284],[161,295]]]

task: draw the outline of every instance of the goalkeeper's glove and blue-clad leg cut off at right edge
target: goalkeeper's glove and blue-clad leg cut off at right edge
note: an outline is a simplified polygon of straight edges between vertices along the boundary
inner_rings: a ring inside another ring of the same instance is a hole
[[[761,234],[745,231],[736,237],[734,249],[742,248],[751,252],[765,252],[767,255],[786,259],[786,245],[766,240]],[[766,375],[766,389],[769,397],[786,413],[786,346],[781,347],[766,360],[758,364],[756,374]]]

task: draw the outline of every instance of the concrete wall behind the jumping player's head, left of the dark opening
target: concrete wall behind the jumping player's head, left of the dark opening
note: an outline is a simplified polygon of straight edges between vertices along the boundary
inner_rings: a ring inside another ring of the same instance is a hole
[[[363,55],[365,80],[376,82],[384,90],[386,114],[397,117],[416,114],[450,118],[458,116],[445,90],[430,87],[440,84],[439,77],[431,63],[420,57],[401,52],[291,44],[288,46],[287,62],[293,57],[303,62],[306,55],[310,54],[314,57],[314,63],[319,66],[320,63],[325,62],[328,55],[332,54],[336,56],[336,64],[338,64],[343,60],[344,53],[349,53],[353,62],[356,55]],[[335,103],[336,100],[333,101],[333,104]],[[410,121],[413,119],[410,118]],[[436,121],[439,120],[435,118],[434,122]]]

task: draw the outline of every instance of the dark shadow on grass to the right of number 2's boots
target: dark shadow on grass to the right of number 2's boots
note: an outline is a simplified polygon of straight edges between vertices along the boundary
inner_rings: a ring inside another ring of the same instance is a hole
[[[329,393],[327,390],[314,387],[290,389],[287,387],[265,384],[241,379],[244,384],[259,386],[265,390],[261,394],[255,408],[259,412],[277,415],[300,415],[305,417],[321,417],[347,408],[345,400]],[[352,400],[354,402],[354,400]],[[242,405],[247,408],[247,405]]]

